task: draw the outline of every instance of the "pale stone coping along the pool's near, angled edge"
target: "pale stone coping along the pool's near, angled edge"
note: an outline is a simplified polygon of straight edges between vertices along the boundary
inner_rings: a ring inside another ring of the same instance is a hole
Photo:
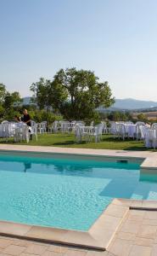
[[[157,201],[115,198],[88,231],[0,221],[0,236],[105,251],[130,210],[157,211]]]

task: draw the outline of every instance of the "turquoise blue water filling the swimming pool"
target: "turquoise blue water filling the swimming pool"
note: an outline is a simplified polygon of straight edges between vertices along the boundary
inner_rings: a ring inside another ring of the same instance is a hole
[[[115,197],[157,199],[139,165],[0,154],[0,219],[88,230]]]

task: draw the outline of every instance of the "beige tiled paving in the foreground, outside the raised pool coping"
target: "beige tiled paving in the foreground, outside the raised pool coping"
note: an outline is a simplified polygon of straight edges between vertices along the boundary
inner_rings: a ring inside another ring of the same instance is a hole
[[[0,256],[156,256],[157,211],[130,210],[105,252],[0,236]]]

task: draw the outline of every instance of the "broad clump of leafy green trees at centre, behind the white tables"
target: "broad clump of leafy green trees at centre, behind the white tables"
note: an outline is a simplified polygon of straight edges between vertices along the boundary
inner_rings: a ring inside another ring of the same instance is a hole
[[[75,67],[60,69],[53,81],[40,79],[31,84],[31,91],[40,109],[58,109],[66,119],[92,119],[96,108],[115,102],[108,82],[98,83],[93,72]]]

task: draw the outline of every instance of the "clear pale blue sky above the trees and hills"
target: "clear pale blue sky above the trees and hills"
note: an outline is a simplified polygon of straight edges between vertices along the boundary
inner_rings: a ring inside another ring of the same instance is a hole
[[[156,0],[0,0],[0,82],[90,69],[117,98],[157,101]]]

